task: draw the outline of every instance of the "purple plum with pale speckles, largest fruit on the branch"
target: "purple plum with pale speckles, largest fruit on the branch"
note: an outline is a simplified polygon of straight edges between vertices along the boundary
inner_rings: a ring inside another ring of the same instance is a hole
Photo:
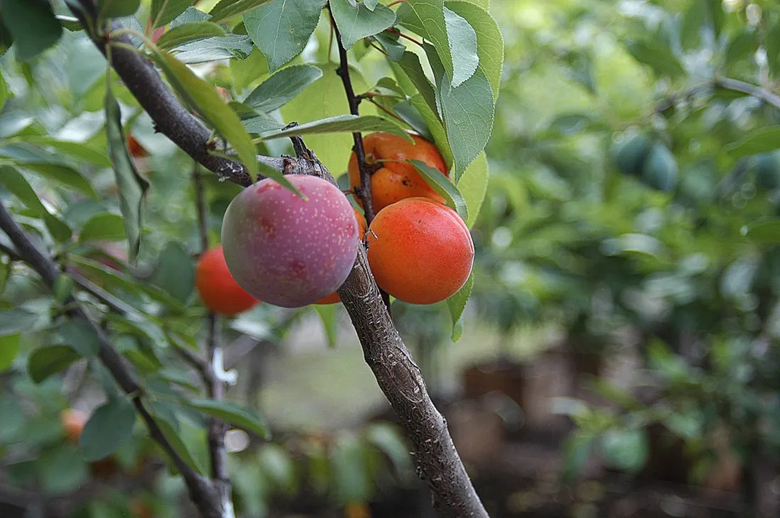
[[[338,188],[315,176],[287,179],[307,199],[270,178],[247,187],[225,212],[222,248],[243,289],[261,301],[300,308],[343,284],[360,236]]]

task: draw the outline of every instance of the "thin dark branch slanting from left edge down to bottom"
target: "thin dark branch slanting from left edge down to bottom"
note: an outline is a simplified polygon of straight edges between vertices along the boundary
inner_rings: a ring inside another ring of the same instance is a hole
[[[55,266],[55,263],[37,248],[30,237],[16,224],[16,221],[12,219],[11,214],[2,203],[0,203],[0,229],[2,229],[5,234],[8,234],[8,237],[16,248],[16,255],[30,265],[33,270],[41,276],[48,287],[54,287],[55,280],[57,280],[57,277],[59,277],[60,274],[57,266]],[[176,450],[173,449],[171,443],[165,438],[165,434],[163,434],[157,422],[154,421],[154,418],[149,411],[147,411],[146,407],[144,407],[144,401],[141,399],[142,390],[138,385],[135,376],[130,372],[122,355],[112,346],[105,331],[73,297],[66,298],[63,305],[70,308],[68,310],[69,316],[83,319],[97,336],[98,343],[100,344],[97,358],[99,358],[105,368],[108,369],[108,372],[111,373],[122,391],[132,397],[136,411],[140,414],[149,429],[149,435],[151,435],[151,438],[160,445],[163,451],[176,465],[179,473],[182,474],[187,489],[190,492],[190,499],[192,499],[195,506],[197,506],[201,516],[204,518],[222,518],[222,513],[220,513],[220,510],[215,506],[218,499],[215,498],[216,489],[214,485],[206,478],[201,477],[200,474],[197,474],[195,470],[193,470],[181,456],[176,453]]]

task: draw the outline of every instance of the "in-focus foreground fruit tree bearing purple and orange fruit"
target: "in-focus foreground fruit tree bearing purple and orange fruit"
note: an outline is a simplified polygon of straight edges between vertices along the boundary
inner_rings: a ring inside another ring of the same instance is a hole
[[[340,300],[435,509],[488,516],[389,298],[446,300],[454,328],[469,298],[503,62],[488,4],[0,2],[0,367],[104,395],[58,484],[141,437],[200,516],[235,516],[225,434],[268,428],[225,400],[223,337]]]

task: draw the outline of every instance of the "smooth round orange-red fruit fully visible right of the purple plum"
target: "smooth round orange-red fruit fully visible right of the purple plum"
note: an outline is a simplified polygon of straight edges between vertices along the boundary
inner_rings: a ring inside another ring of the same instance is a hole
[[[407,198],[371,222],[368,263],[379,287],[411,304],[434,304],[466,284],[474,259],[471,234],[448,206]]]

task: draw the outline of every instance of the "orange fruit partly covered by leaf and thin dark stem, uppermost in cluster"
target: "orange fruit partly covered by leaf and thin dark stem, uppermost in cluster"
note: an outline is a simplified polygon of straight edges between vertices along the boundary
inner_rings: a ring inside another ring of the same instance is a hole
[[[363,139],[363,148],[369,163],[371,160],[393,160],[379,163],[381,167],[371,174],[371,199],[374,201],[374,213],[378,213],[392,203],[415,196],[445,203],[445,199],[427,184],[417,169],[405,161],[410,159],[423,161],[449,178],[444,157],[441,156],[438,148],[426,139],[417,135],[413,135],[412,138],[414,143],[389,133],[371,133]],[[349,185],[353,189],[360,188],[360,170],[354,152],[349,157]],[[356,198],[362,206],[360,197],[356,196]]]

